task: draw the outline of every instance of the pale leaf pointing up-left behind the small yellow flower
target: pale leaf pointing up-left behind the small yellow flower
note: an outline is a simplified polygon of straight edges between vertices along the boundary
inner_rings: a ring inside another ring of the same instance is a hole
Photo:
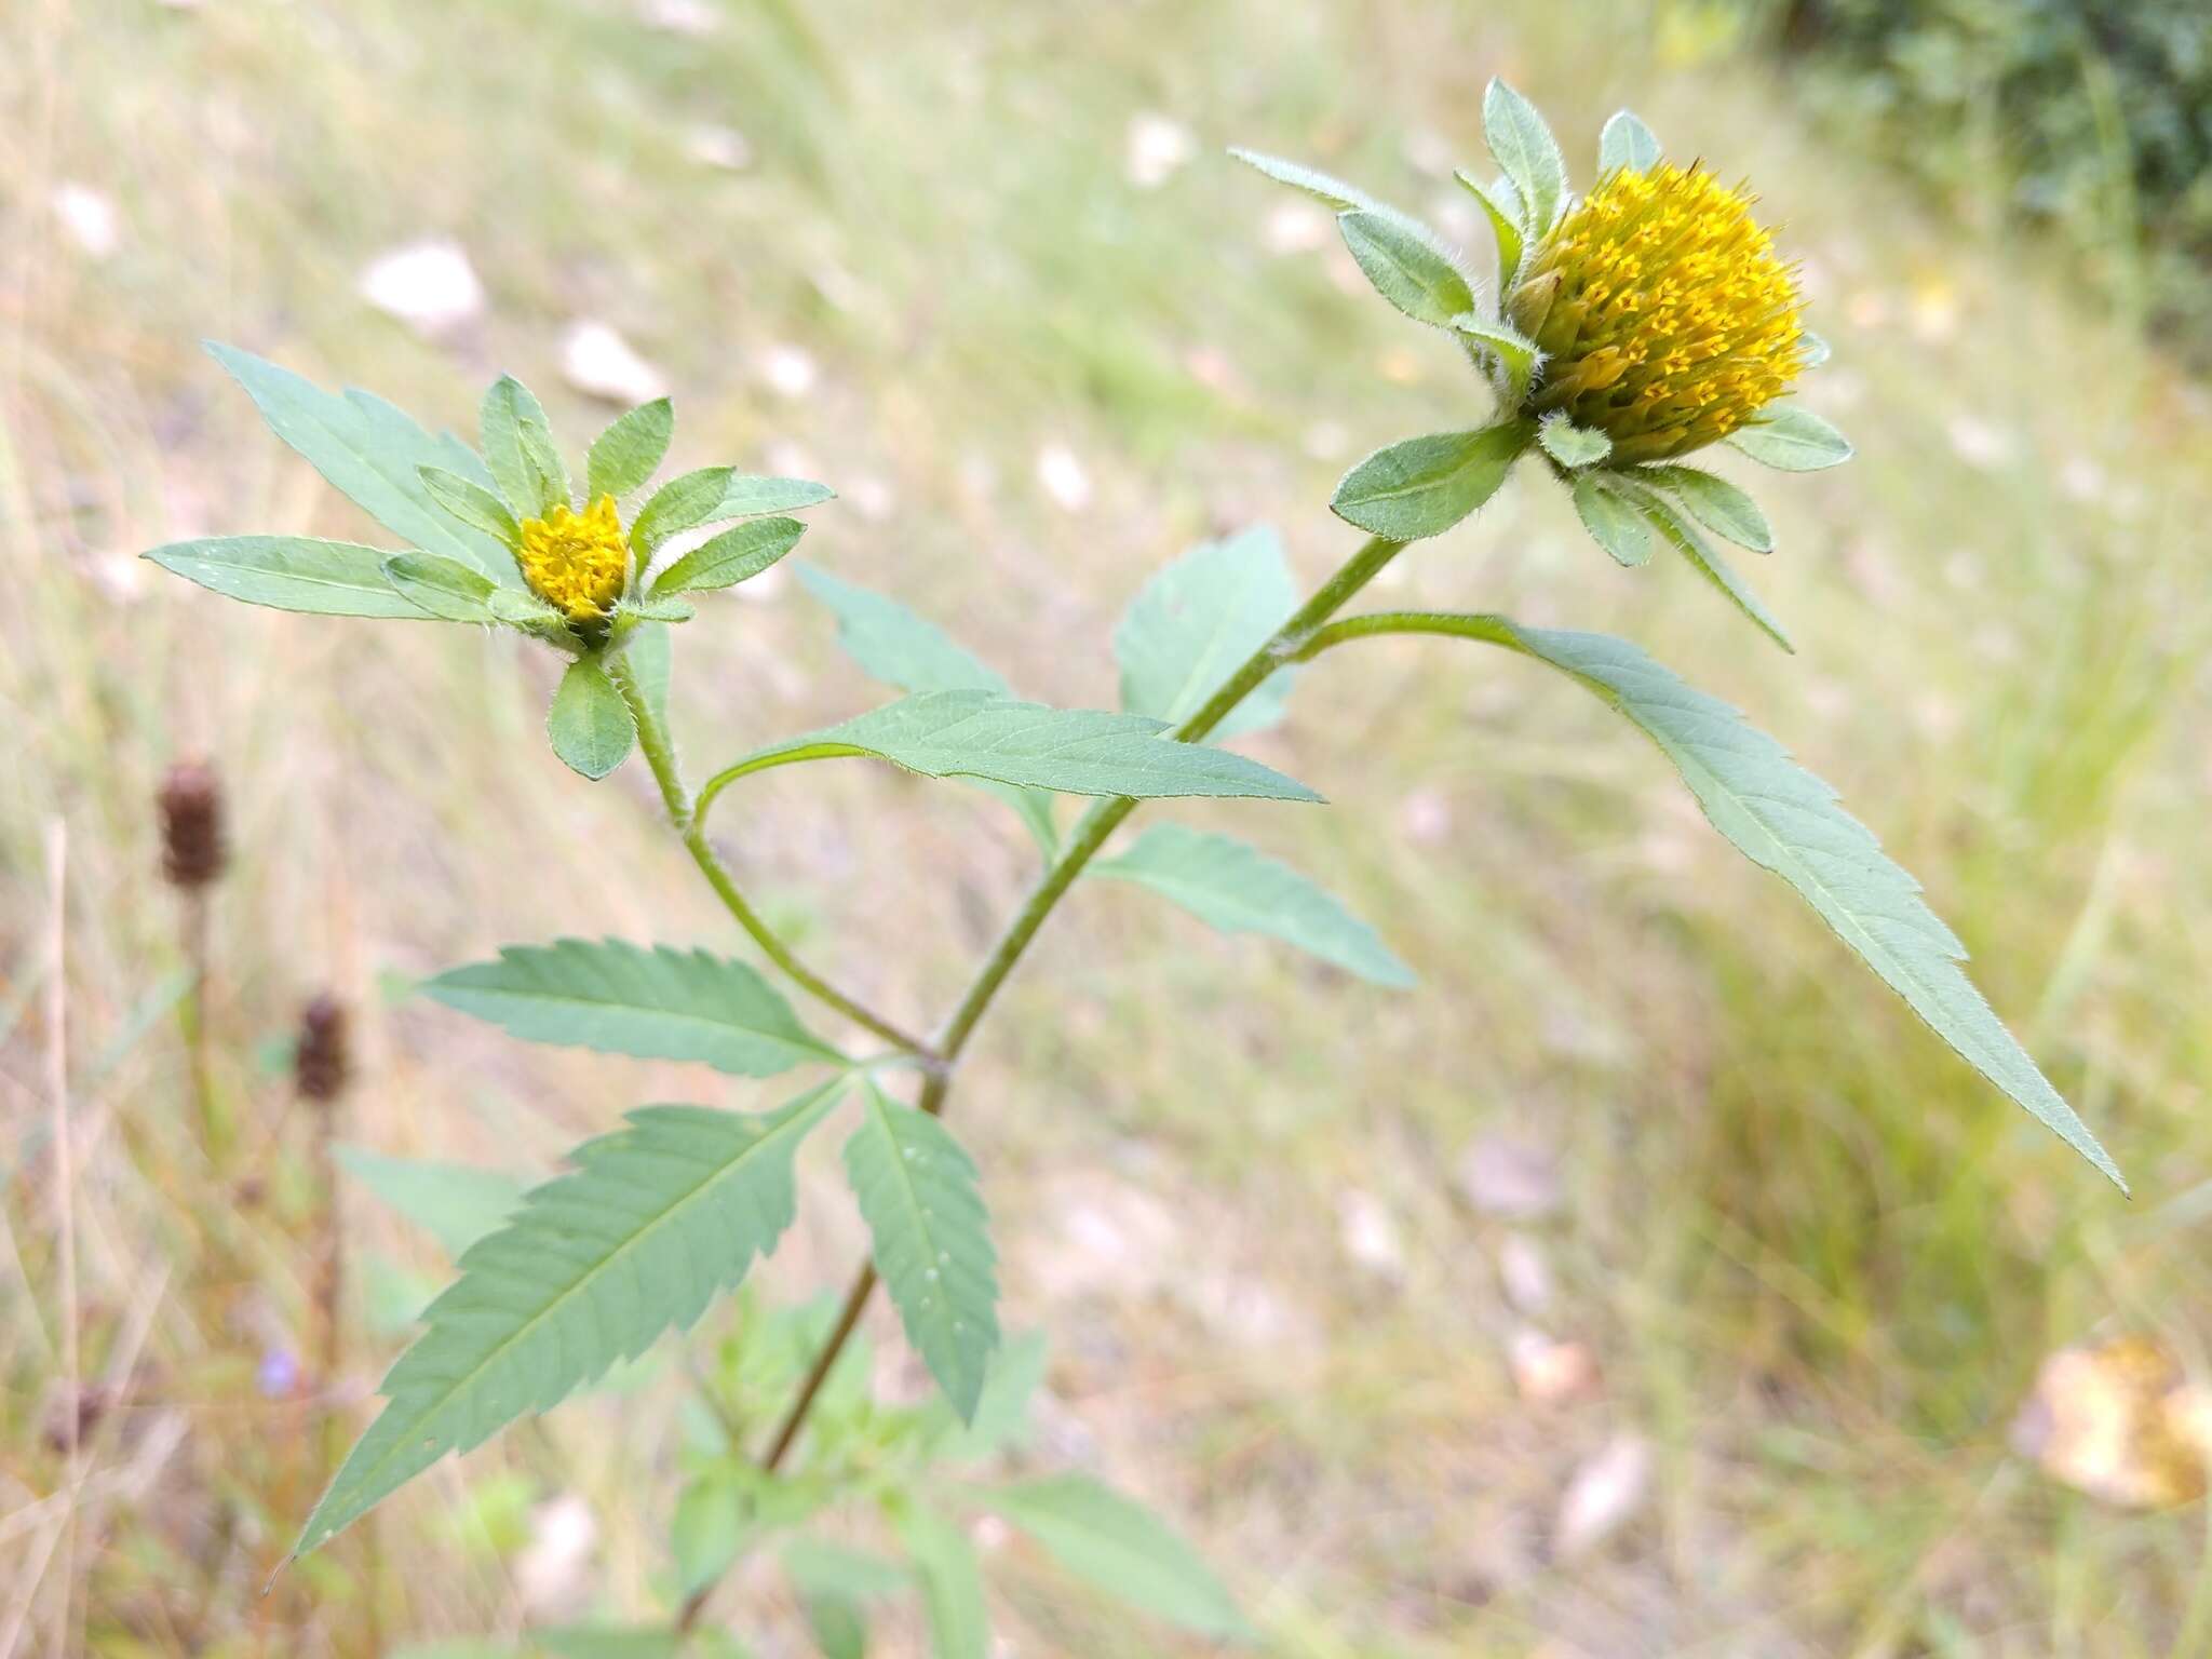
[[[438,511],[422,487],[422,467],[442,467],[478,484],[491,482],[484,462],[460,438],[449,431],[431,436],[409,414],[372,392],[347,389],[343,396],[334,396],[234,345],[210,341],[208,354],[246,387],[254,407],[261,409],[261,418],[270,422],[270,431],[292,445],[338,493],[387,531],[409,546],[473,564],[495,582],[522,584],[504,546],[456,524]],[[385,553],[389,551],[385,549]],[[254,604],[268,604],[268,599],[254,599]],[[325,611],[323,606],[281,608]],[[325,611],[325,615],[380,613]]]

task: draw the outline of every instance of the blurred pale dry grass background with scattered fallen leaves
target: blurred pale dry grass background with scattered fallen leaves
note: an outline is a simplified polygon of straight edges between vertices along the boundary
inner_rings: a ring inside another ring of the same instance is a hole
[[[1860,460],[1761,480],[1783,551],[1750,575],[1796,659],[1686,571],[1613,568],[1533,476],[1387,599],[1615,628],[1750,708],[1922,876],[2137,1199],[1955,1064],[1595,703],[1378,644],[1252,741],[1332,810],[1179,816],[1321,876],[1420,991],[1102,885],[978,1044],[958,1126],[1013,1323],[1053,1336],[1040,1455],[1164,1506],[1283,1655],[2212,1650],[2201,1504],[2104,1509],[2006,1447],[2053,1347],[2150,1332],[2201,1371],[2212,1334],[2212,405],[2064,261],[1838,148],[1712,7],[1657,0],[13,0],[7,44],[0,1652],[369,1652],[648,1615],[668,1378],[394,1502],[383,1595],[363,1555],[259,1595],[319,1480],[312,1420],[257,1387],[312,1303],[281,1044],[336,987],[361,1013],[345,1135],[524,1175],[641,1099],[745,1099],[405,1000],[504,940],[732,938],[637,768],[586,787],[546,754],[546,661],[135,564],[190,533],[365,529],[195,341],[462,431],[513,369],[582,445],[608,409],[557,343],[604,321],[666,369],[681,465],[827,480],[812,560],[1029,695],[1108,706],[1108,635],[1155,566],[1272,520],[1318,577],[1352,540],[1323,509],[1338,471],[1480,405],[1325,217],[1221,146],[1480,241],[1449,166],[1480,155],[1493,73],[1584,179],[1626,102],[1756,181],[1836,347],[1807,396]],[[741,131],[748,164],[701,159],[701,126]],[[106,257],[55,215],[69,184],[113,204]],[[487,290],[436,341],[356,288],[422,237]],[[677,639],[695,765],[878,695],[796,584],[761,586]],[[210,1168],[170,1024],[150,799],[186,754],[232,787],[212,1029],[241,1137],[274,1137],[261,1192]],[[909,1022],[942,1013],[1033,858],[989,803],[865,768],[763,779],[723,834],[816,964]],[[1500,1161],[1535,1170],[1520,1212]],[[827,1157],[814,1177],[779,1292],[860,1252]],[[345,1223],[341,1383],[365,1398],[396,1340],[378,1274],[442,1263],[358,1190]],[[46,1433],[71,1336],[117,1385],[75,1486]],[[1513,1365],[1533,1340],[1595,1376],[1544,1398]],[[1608,1447],[1648,1478],[1562,1548],[1562,1493]],[[549,1566],[549,1537],[584,1542]],[[1164,1650],[995,1555],[1009,1652]],[[796,1652],[774,1597],[728,1606]]]

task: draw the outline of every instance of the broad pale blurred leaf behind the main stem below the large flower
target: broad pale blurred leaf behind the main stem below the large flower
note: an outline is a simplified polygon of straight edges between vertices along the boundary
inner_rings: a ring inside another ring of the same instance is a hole
[[[1296,608],[1298,582],[1274,529],[1256,524],[1219,542],[1199,542],[1152,573],[1115,628],[1121,708],[1179,726]],[[1290,681],[1290,670],[1270,675],[1214,728],[1214,737],[1274,726],[1283,717]]]

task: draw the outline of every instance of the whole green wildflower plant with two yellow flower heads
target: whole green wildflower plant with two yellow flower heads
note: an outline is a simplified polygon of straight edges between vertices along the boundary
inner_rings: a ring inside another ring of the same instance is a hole
[[[792,513],[827,502],[825,487],[706,467],[655,489],[675,425],[666,400],[599,434],[575,480],[538,400],[513,378],[484,396],[480,447],[469,449],[369,394],[330,396],[212,347],[276,434],[407,546],[239,535],[148,557],[252,604],[515,628],[546,644],[566,659],[546,717],[560,759],[604,779],[639,752],[675,836],[768,964],[863,1033],[858,1051],[832,1042],[748,962],[622,940],[513,945],[429,980],[434,1000],[522,1040],[703,1062],[745,1079],[803,1073],[805,1084],[765,1110],[633,1110],[471,1243],[385,1376],[385,1407],[307,1515],[299,1551],[445,1453],[557,1405],[739,1292],[794,1219],[794,1152],[836,1119],[872,1261],[836,1305],[768,1310],[739,1294],[699,1374],[710,1409],[686,1451],[666,1577],[670,1635],[695,1632],[721,1575],[776,1542],[825,1652],[860,1652],[867,1606],[918,1586],[938,1652],[980,1655],[978,1564],[958,1524],[978,1509],[1168,1621],[1241,1632],[1221,1582],[1130,1500],[1086,1475],[967,1478],[1018,1433],[1042,1345],[1000,1332],[978,1170],[945,1119],[969,1040],[1084,878],[1137,883],[1214,927],[1267,933],[1380,984],[1411,982],[1371,927],[1241,841],[1155,825],[1108,856],[1144,801],[1316,801],[1221,739],[1283,717],[1292,666],[1376,635],[1498,646],[1593,692],[1674,763],[1714,830],[1796,889],[1938,1037],[2119,1181],[1966,980],[1964,949],[1911,876],[1732,708],[1608,635],[1502,615],[1343,615],[1409,544],[1464,520],[1526,465],[1573,495],[1608,555],[1641,566],[1672,549],[1787,646],[1712,540],[1765,553],[1767,520],[1694,460],[1719,442],[1785,471],[1851,453],[1834,427],[1785,400],[1825,347],[1803,327],[1794,270],[1745,188],[1703,161],[1668,159],[1626,111],[1606,124],[1597,181],[1582,197],[1544,119],[1502,82],[1486,93],[1484,126],[1500,175],[1458,175],[1493,230],[1495,268],[1482,272],[1349,184],[1239,153],[1329,204],[1376,290],[1451,334],[1473,367],[1469,389],[1489,403],[1478,425],[1407,438],[1352,467],[1332,507],[1367,540],[1310,597],[1298,599],[1267,531],[1199,546],[1146,586],[1115,635],[1124,706],[1060,710],[1018,699],[902,604],[810,568],[801,577],[838,617],[847,653],[905,697],[768,741],[697,790],[668,737],[668,630],[690,622],[703,595],[787,555],[805,529]],[[927,1035],[805,967],[708,838],[710,810],[743,779],[849,757],[989,790],[1020,814],[1042,858],[1029,900]],[[1064,794],[1088,799],[1073,825],[1055,805]],[[869,1398],[856,1329],[878,1283],[938,1400]],[[841,1504],[878,1509],[902,1559],[805,1533]]]

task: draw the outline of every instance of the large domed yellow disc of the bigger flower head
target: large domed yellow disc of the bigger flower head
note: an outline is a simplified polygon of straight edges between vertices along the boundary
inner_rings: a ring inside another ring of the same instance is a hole
[[[1535,248],[1509,301],[1544,352],[1531,411],[1666,460],[1752,420],[1803,367],[1796,279],[1752,195],[1701,166],[1608,175]]]

